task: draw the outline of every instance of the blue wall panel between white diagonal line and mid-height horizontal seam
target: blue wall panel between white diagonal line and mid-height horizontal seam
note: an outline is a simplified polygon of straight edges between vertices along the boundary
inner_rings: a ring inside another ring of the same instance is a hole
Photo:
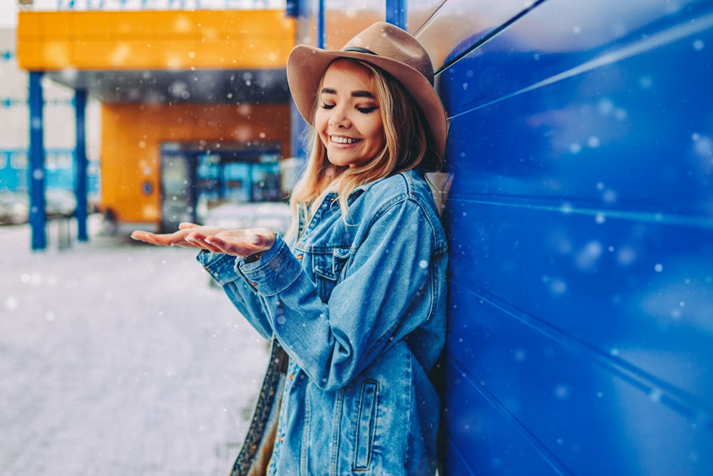
[[[688,56],[690,64],[704,64],[705,54],[692,46],[698,41],[713,44],[713,30],[453,121],[448,160],[453,168],[478,171],[467,181],[461,178],[454,193],[557,198],[562,205],[578,201],[617,213],[635,207],[701,223],[697,217],[713,211],[707,196],[713,173],[713,71],[694,74],[669,66]],[[694,101],[682,101],[682,87]],[[486,153],[453,153],[468,149]],[[646,179],[632,180],[637,177]]]

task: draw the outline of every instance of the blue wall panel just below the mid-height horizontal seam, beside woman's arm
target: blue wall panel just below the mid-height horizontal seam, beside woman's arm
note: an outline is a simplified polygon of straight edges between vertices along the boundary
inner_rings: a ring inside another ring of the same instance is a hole
[[[479,294],[656,374],[645,378],[651,385],[685,388],[710,404],[710,230],[453,203],[461,206],[474,219],[454,221],[451,232],[469,236],[475,226],[479,243],[454,238],[456,282],[472,280]]]

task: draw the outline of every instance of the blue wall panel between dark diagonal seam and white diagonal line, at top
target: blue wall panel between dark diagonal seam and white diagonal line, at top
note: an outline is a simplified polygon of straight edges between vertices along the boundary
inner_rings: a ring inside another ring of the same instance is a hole
[[[461,33],[462,43],[449,57],[461,56],[473,44],[478,48],[467,61],[450,66],[442,75],[446,87],[441,96],[453,116],[537,87],[543,81],[558,81],[560,75],[579,74],[691,36],[708,28],[709,21],[704,14],[711,8],[708,0],[682,0],[676,5],[666,0],[650,0],[645,4],[619,0],[548,0],[542,4],[533,2],[532,11],[521,12],[519,1],[501,2],[496,11],[483,8],[483,4],[489,3],[477,2],[477,6],[469,7],[467,12],[454,14],[463,18],[486,16],[486,19],[493,18],[494,14],[494,18],[507,20],[508,24],[523,13],[525,16],[506,29],[488,24],[482,30],[483,21],[478,21],[473,25],[472,36],[466,38]],[[460,6],[466,8],[465,4]],[[508,16],[513,18],[508,19]],[[696,16],[700,18],[691,22]],[[426,28],[430,29],[431,25]],[[490,41],[480,45],[490,36],[493,36]],[[707,56],[704,44],[698,48],[695,44],[689,46],[691,51],[672,64],[685,64]],[[697,58],[692,58],[692,54],[697,54]],[[675,75],[676,70],[667,72]],[[623,78],[612,76],[607,82],[616,83],[619,79]],[[644,82],[642,86],[645,85]],[[593,83],[586,86],[577,95],[590,97],[600,88]]]

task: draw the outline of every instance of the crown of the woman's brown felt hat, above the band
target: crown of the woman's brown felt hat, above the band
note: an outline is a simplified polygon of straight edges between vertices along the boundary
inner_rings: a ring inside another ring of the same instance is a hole
[[[369,26],[344,45],[342,51],[349,49],[364,49],[382,58],[399,61],[419,71],[429,83],[434,83],[434,66],[428,51],[418,40],[406,31],[379,22]]]

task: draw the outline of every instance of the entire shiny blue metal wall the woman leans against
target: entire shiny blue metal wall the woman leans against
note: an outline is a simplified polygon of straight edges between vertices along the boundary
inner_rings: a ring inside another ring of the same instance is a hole
[[[530,3],[430,20],[447,474],[711,475],[713,1]]]

